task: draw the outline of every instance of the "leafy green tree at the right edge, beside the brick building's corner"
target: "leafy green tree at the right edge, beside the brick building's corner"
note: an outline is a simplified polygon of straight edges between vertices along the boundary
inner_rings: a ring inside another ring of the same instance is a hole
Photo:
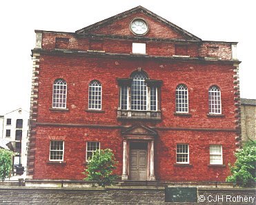
[[[226,178],[227,182],[235,182],[238,186],[254,186],[256,182],[256,140],[250,140],[241,151],[235,153],[237,158],[231,166],[232,175]]]

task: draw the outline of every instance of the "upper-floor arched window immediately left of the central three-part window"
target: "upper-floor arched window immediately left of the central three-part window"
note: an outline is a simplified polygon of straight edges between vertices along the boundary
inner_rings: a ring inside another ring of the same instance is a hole
[[[101,83],[92,80],[89,84],[88,109],[101,109]]]

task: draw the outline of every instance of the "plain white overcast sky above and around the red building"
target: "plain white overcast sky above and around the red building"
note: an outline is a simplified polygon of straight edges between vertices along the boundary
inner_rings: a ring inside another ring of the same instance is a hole
[[[205,41],[239,42],[242,98],[256,99],[255,1],[246,0],[3,0],[0,1],[0,115],[29,111],[35,30],[75,32],[143,6]]]

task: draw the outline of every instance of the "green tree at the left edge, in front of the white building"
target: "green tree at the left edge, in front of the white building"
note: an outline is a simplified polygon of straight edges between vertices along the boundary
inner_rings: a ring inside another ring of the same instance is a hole
[[[12,171],[12,156],[14,153],[7,149],[0,149],[0,179],[5,180]]]

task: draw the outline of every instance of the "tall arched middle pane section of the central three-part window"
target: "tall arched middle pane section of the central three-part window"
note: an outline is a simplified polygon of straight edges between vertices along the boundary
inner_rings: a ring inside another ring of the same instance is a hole
[[[135,72],[131,76],[131,109],[146,110],[147,109],[147,86],[145,80],[146,74],[143,72]]]

